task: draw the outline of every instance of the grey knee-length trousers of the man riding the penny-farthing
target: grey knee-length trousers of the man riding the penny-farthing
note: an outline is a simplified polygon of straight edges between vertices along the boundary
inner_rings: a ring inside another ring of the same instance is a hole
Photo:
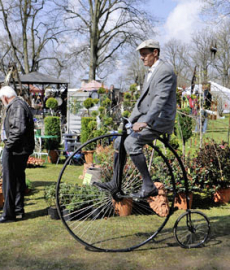
[[[140,132],[132,132],[125,139],[124,146],[127,154],[129,155],[137,155],[142,153],[143,147],[152,143],[154,139],[157,139],[160,136],[160,132],[156,130],[152,130],[150,128],[144,128]],[[119,149],[121,137],[118,137],[115,140],[114,148],[116,150]]]

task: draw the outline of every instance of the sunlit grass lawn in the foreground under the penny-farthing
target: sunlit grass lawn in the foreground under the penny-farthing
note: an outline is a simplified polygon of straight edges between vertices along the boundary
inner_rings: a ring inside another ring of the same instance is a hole
[[[104,270],[104,269],[229,269],[230,204],[201,209],[210,218],[212,234],[203,248],[186,250],[173,238],[177,211],[151,243],[129,253],[88,251],[76,242],[60,220],[47,216],[44,188],[57,181],[62,165],[27,169],[34,191],[26,196],[26,219],[0,225],[1,270]],[[69,174],[81,174],[69,171]],[[204,208],[204,207],[200,207]]]

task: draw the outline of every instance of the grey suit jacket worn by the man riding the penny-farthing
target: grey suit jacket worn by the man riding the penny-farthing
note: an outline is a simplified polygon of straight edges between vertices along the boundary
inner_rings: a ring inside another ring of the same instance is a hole
[[[151,129],[171,134],[176,117],[176,85],[172,67],[160,60],[148,82],[145,76],[141,96],[129,120],[145,122]]]

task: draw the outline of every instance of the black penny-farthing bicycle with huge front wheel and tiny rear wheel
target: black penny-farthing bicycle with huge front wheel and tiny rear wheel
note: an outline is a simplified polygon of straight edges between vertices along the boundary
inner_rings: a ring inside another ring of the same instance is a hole
[[[166,138],[144,147],[150,175],[153,181],[164,183],[166,208],[162,216],[156,214],[154,198],[134,199],[130,193],[141,187],[142,179],[123,142],[127,136],[125,124],[121,134],[107,134],[92,139],[78,148],[65,162],[60,173],[56,197],[59,215],[70,234],[86,247],[98,251],[131,251],[149,241],[166,225],[176,210],[174,207],[179,180],[184,181],[187,208],[189,208],[188,179],[183,163]],[[115,194],[99,190],[94,181],[112,179],[114,136],[121,137]],[[93,166],[79,178],[77,166],[71,160],[84,149],[93,152]],[[123,163],[123,164],[122,164]],[[203,245],[210,233],[208,218],[199,211],[187,209],[174,225],[174,236],[181,247],[193,248]]]

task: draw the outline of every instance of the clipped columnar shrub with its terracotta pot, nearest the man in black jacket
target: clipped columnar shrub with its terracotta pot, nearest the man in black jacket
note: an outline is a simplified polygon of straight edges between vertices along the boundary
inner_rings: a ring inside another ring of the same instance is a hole
[[[47,116],[44,119],[45,124],[45,148],[48,150],[52,163],[56,163],[58,159],[58,148],[61,137],[60,117]],[[51,136],[51,138],[49,138]],[[53,137],[53,138],[52,138]]]

